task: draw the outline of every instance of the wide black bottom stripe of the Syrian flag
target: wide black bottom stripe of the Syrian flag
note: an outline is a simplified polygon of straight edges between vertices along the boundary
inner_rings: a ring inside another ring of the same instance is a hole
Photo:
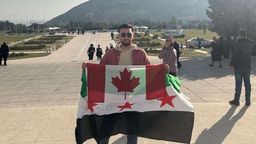
[[[77,144],[95,138],[99,141],[117,134],[136,135],[156,140],[190,143],[194,113],[184,111],[123,112],[84,115],[77,119]]]

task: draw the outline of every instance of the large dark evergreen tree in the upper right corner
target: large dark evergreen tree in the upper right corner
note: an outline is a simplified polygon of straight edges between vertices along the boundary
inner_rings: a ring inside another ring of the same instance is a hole
[[[255,0],[208,0],[207,16],[211,19],[210,31],[229,38],[237,36],[240,29],[247,31],[247,37],[256,40]]]

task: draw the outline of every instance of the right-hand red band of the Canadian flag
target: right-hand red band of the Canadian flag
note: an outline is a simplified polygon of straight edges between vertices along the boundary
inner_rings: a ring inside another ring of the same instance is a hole
[[[146,66],[146,100],[165,96],[165,70],[164,64]]]

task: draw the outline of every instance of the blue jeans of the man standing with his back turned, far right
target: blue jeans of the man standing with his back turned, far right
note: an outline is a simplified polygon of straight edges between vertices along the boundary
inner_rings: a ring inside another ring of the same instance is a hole
[[[235,78],[236,78],[235,100],[240,99],[241,90],[242,90],[242,83],[243,83],[243,78],[244,78],[245,100],[250,101],[250,97],[251,97],[251,82],[250,82],[251,69],[235,69],[234,72],[235,72]]]

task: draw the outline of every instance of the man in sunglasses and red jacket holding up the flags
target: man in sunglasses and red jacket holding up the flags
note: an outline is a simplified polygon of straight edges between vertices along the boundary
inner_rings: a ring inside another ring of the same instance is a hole
[[[137,45],[132,44],[132,40],[135,36],[133,26],[130,24],[122,24],[119,29],[119,38],[121,43],[117,45],[114,49],[108,50],[108,52],[102,57],[99,64],[101,65],[122,65],[122,66],[141,66],[141,65],[150,65],[150,61],[148,59],[147,53],[137,47]],[[87,63],[83,62],[82,70],[85,70],[87,67]],[[164,65],[163,68],[166,72],[169,72],[169,66]],[[124,113],[125,114],[125,113]],[[102,115],[103,119],[107,121],[109,118],[106,115]],[[135,115],[134,118],[139,118]],[[127,125],[129,125],[129,121],[127,121]],[[113,129],[114,126],[109,125],[107,130],[103,131],[110,131]],[[133,128],[135,131],[138,131],[138,127]],[[97,131],[97,130],[96,130]],[[97,131],[98,132],[98,131]],[[96,133],[97,133],[96,132]],[[98,132],[99,133],[99,132]],[[100,134],[100,133],[99,133]],[[105,137],[102,136],[102,137]],[[109,138],[106,137],[99,141],[97,144],[108,144]],[[138,137],[135,135],[127,135],[127,144],[137,144]]]

